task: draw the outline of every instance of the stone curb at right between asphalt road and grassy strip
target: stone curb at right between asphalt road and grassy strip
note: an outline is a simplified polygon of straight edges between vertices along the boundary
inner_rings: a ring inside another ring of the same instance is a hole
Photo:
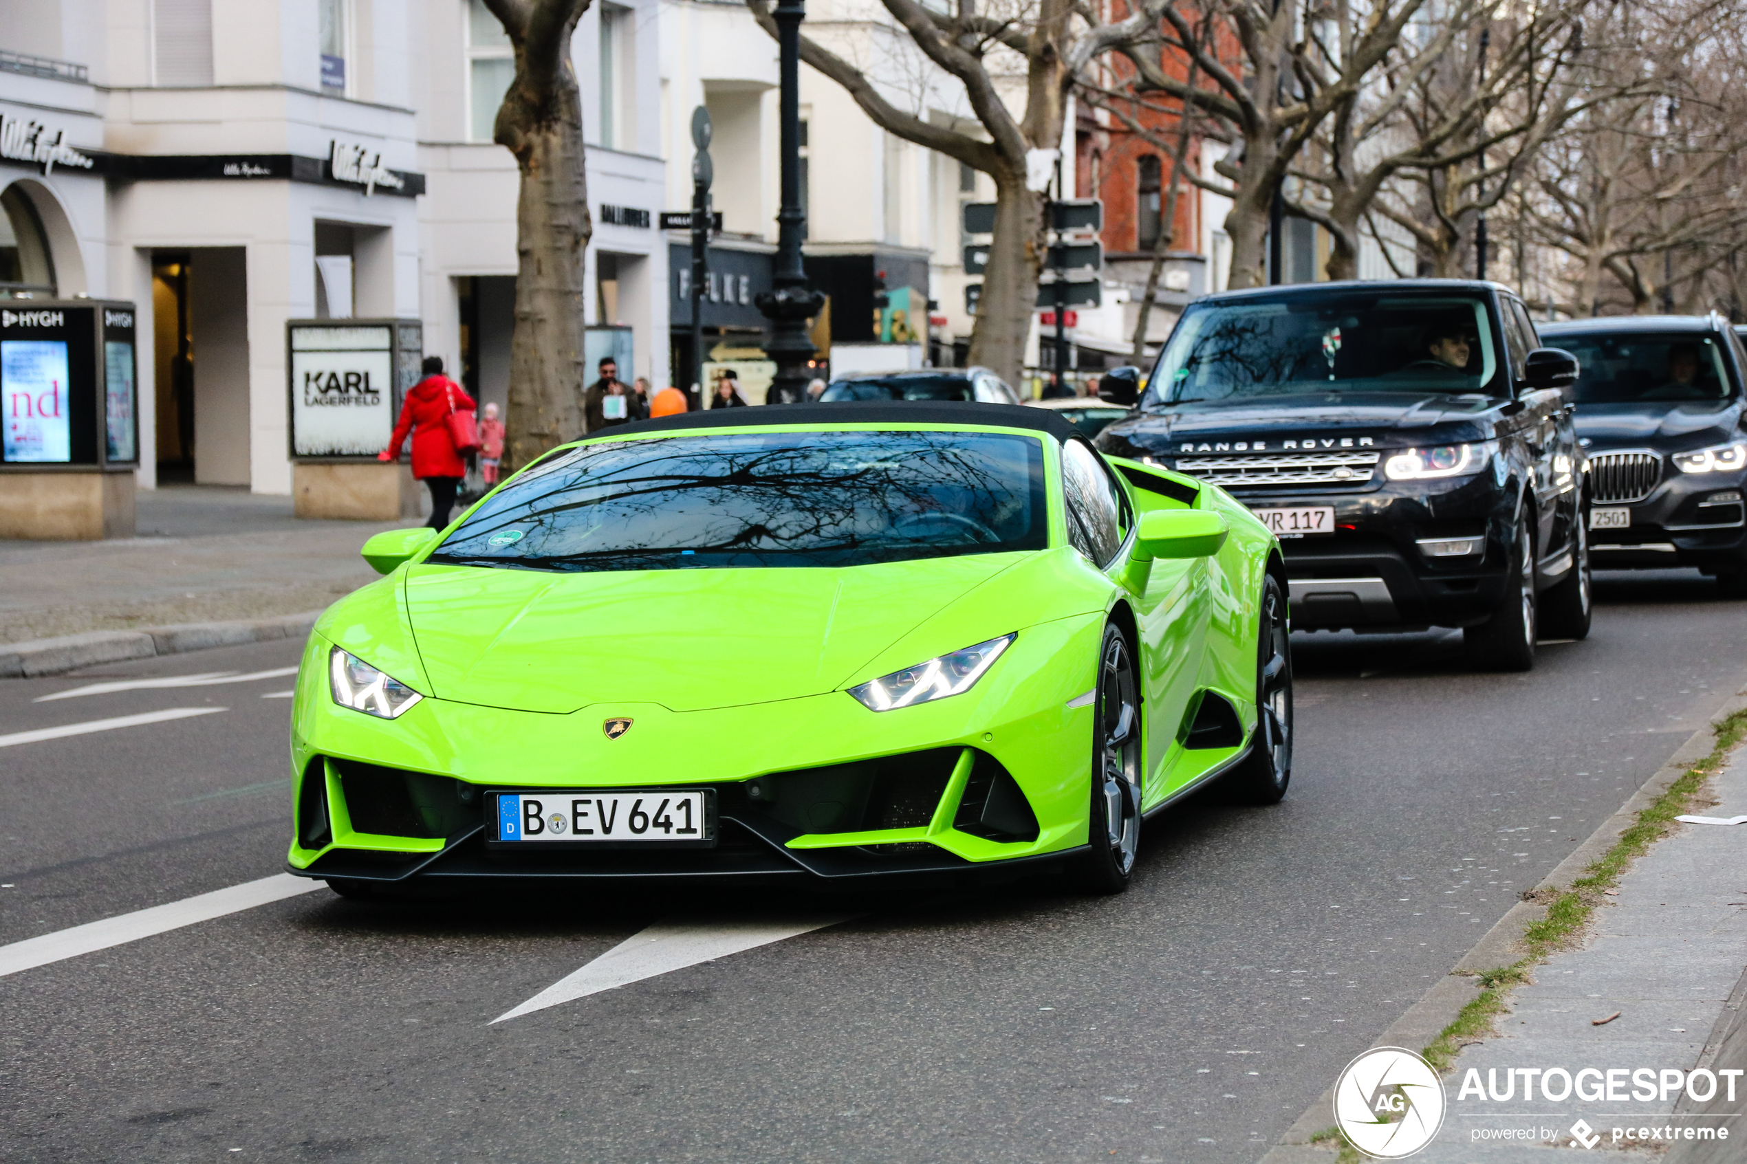
[[[1553,871],[1536,885],[1534,892],[1562,892],[1585,869],[1595,864],[1619,834],[1632,827],[1637,815],[1649,808],[1656,798],[1668,791],[1668,785],[1686,775],[1693,763],[1710,754],[1716,745],[1716,721],[1747,709],[1747,689],[1724,700],[1705,717],[1705,726],[1686,738],[1674,756],[1639,785],[1639,791],[1625,805],[1604,820],[1565,860],[1553,866]],[[1546,916],[1546,906],[1520,900],[1474,942],[1466,955],[1457,960],[1450,972],[1433,984],[1420,1000],[1408,1007],[1406,1014],[1396,1019],[1389,1030],[1371,1040],[1371,1047],[1408,1047],[1419,1051],[1436,1038],[1455,1016],[1480,995],[1480,970],[1494,970],[1509,965],[1523,956],[1523,930]],[[1281,1134],[1279,1141],[1268,1148],[1260,1164],[1328,1164],[1333,1150],[1312,1147],[1310,1136],[1335,1124],[1335,1084],[1317,1096],[1305,1112],[1293,1120],[1293,1126]]]

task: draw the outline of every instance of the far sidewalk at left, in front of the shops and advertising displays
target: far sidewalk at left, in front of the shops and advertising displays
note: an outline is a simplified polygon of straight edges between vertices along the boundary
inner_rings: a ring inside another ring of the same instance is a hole
[[[290,497],[168,485],[138,496],[138,536],[0,541],[0,644],[320,611],[377,574],[358,548],[400,522],[309,522]]]

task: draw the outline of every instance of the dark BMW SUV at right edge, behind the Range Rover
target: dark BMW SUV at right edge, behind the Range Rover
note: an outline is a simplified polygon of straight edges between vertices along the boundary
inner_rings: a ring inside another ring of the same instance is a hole
[[[1595,565],[1696,565],[1726,597],[1747,597],[1747,351],[1735,330],[1719,316],[1625,316],[1541,335],[1583,365]]]

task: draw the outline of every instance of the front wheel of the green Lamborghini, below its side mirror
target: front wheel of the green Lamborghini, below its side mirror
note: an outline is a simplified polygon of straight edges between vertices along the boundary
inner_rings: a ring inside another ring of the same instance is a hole
[[[1122,894],[1141,848],[1141,693],[1134,651],[1116,627],[1104,628],[1092,707],[1092,850],[1080,881],[1094,894]]]

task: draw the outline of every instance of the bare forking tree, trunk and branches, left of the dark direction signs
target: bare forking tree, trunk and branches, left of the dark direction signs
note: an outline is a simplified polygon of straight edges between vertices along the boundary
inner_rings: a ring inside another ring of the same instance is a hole
[[[776,21],[767,0],[746,3],[774,38]],[[1038,279],[1048,258],[1043,208],[1055,150],[1062,143],[1069,89],[1088,61],[1146,35],[1164,0],[1139,0],[1129,16],[1108,23],[1078,0],[1019,0],[999,10],[978,10],[977,0],[956,0],[940,10],[919,0],[880,3],[922,56],[964,87],[985,136],[935,124],[926,112],[898,108],[865,70],[811,37],[800,38],[800,59],[840,84],[886,133],[994,178],[994,237],[970,359],[1017,380]],[[1010,73],[1022,73],[1025,80],[1022,112],[1003,96]]]

